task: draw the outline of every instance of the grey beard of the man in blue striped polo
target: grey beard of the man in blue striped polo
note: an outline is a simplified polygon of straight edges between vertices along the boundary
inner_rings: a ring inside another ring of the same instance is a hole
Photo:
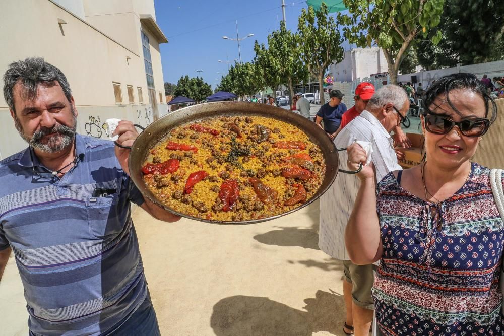
[[[21,138],[23,138],[31,147],[44,153],[57,153],[71,146],[77,133],[77,116],[75,115],[73,109],[72,115],[74,121],[74,125],[72,127],[56,123],[56,125],[51,128],[41,127],[33,133],[33,136],[31,137],[28,137],[25,134],[17,116],[14,117],[14,124]],[[46,144],[41,143],[42,138],[50,133],[57,133],[57,136],[51,137]]]

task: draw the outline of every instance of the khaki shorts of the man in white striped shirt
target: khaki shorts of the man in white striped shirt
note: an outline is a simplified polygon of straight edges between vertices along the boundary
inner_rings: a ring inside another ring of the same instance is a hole
[[[361,308],[374,310],[371,288],[373,287],[376,266],[372,263],[356,265],[350,260],[343,260],[343,266],[346,281],[352,284],[353,302]]]

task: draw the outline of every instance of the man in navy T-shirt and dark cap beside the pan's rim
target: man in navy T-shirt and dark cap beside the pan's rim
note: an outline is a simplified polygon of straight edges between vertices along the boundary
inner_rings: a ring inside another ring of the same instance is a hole
[[[324,128],[331,140],[336,137],[336,132],[341,123],[341,117],[346,112],[346,105],[341,102],[344,94],[340,90],[331,90],[329,97],[331,100],[322,105],[317,112],[315,123],[321,128]],[[324,127],[321,122],[324,120]]]

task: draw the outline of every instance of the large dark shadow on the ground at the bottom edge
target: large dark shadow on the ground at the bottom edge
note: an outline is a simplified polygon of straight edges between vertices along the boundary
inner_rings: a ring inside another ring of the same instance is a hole
[[[311,336],[325,331],[341,334],[343,296],[317,291],[302,310],[264,297],[231,296],[214,305],[210,326],[217,336]]]

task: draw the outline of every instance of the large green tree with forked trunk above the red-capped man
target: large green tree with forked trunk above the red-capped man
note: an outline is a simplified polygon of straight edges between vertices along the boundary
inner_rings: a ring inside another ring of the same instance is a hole
[[[392,84],[408,48],[436,27],[443,13],[445,0],[343,0],[350,15],[338,14],[346,25],[344,34],[359,47],[377,45],[382,48]],[[433,44],[441,39],[437,32]]]

